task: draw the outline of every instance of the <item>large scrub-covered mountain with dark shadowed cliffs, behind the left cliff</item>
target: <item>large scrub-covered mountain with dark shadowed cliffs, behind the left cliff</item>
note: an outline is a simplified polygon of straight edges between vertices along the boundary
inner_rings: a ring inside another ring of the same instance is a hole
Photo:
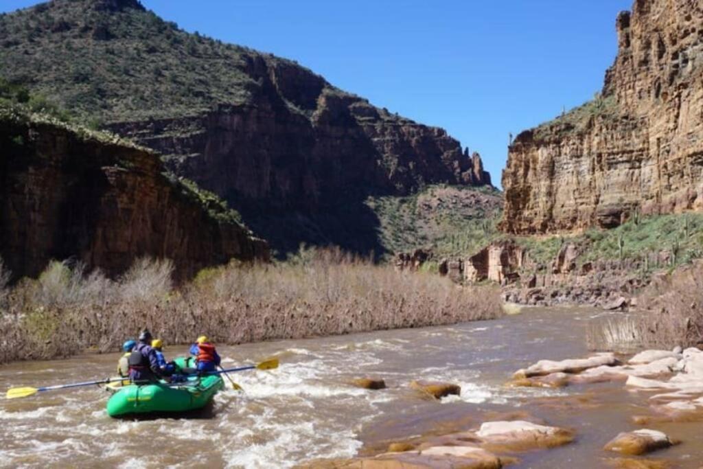
[[[0,70],[165,155],[278,250],[385,250],[368,196],[489,185],[480,157],[297,63],[188,34],[137,0],[0,16]],[[37,73],[42,70],[42,73]]]

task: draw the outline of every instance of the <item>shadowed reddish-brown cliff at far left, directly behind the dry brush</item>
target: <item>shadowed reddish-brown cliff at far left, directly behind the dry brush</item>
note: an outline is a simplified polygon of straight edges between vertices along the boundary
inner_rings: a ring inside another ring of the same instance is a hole
[[[0,148],[0,256],[15,277],[37,276],[51,259],[115,276],[150,256],[172,259],[183,279],[269,255],[231,212],[165,176],[147,150],[1,112]]]

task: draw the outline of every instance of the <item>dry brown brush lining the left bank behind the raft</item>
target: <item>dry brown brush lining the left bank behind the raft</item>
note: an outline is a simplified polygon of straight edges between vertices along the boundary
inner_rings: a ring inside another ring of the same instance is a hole
[[[217,343],[437,326],[500,316],[499,289],[459,288],[338,251],[284,264],[207,269],[175,289],[169,261],[140,259],[112,281],[52,262],[37,280],[0,285],[0,362],[116,351],[148,327],[167,343]],[[0,280],[2,280],[0,266]]]

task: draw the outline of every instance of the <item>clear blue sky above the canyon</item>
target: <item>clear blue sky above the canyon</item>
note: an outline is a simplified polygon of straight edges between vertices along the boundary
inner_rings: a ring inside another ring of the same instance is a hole
[[[2,0],[0,11],[37,4]],[[633,0],[142,0],[183,29],[292,58],[482,154],[593,97]]]

